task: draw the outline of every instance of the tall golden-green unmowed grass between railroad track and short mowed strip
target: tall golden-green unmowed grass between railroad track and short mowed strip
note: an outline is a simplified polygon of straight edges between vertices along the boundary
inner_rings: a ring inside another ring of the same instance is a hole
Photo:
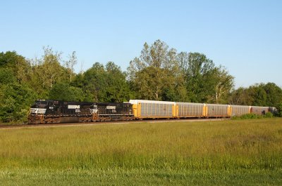
[[[0,168],[282,170],[282,119],[0,130]]]

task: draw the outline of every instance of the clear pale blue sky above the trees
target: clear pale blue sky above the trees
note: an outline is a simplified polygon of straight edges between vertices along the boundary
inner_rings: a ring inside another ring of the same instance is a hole
[[[78,55],[76,72],[113,61],[125,71],[161,39],[223,65],[235,85],[282,86],[282,1],[1,1],[0,52],[26,58],[42,46]]]

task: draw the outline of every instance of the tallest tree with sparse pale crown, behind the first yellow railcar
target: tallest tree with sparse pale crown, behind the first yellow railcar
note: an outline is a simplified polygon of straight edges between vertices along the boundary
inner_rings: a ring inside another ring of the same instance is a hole
[[[164,41],[144,44],[139,58],[130,61],[128,79],[138,99],[187,101],[185,53],[178,55]],[[181,60],[178,62],[178,59]],[[179,91],[178,91],[179,90]]]

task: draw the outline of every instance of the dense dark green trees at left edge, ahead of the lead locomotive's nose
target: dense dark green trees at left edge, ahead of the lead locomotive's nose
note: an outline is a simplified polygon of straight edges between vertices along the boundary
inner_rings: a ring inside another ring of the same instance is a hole
[[[26,121],[36,96],[23,82],[28,63],[16,52],[0,53],[0,122]]]

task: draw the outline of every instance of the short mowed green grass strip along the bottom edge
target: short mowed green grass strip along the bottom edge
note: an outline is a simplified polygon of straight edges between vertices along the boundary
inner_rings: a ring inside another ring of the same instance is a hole
[[[0,171],[0,185],[281,185],[282,171],[124,169]]]

